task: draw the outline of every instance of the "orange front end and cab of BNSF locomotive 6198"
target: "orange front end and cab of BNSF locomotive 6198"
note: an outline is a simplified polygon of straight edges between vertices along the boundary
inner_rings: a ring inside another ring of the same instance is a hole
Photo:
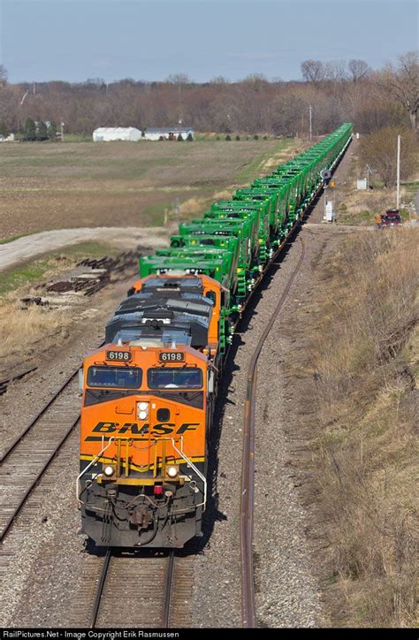
[[[82,530],[97,546],[183,547],[207,498],[212,365],[192,347],[139,342],[84,363]]]

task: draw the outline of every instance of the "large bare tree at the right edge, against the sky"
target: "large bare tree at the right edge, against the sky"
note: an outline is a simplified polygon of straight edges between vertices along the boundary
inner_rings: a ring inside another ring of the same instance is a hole
[[[379,81],[408,110],[410,124],[415,129],[419,109],[419,57],[417,51],[408,51],[398,60],[397,67],[386,66]]]

